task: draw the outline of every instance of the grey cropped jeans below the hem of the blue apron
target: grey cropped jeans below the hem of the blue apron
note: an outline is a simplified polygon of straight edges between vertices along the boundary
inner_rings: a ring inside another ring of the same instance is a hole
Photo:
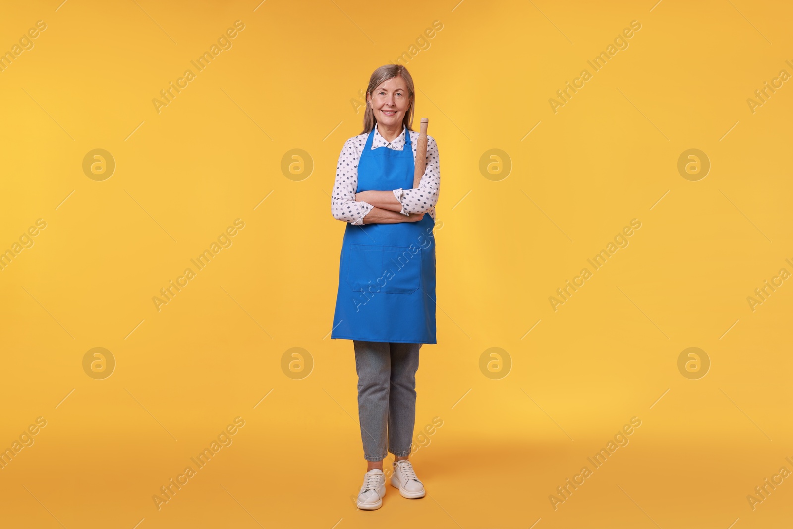
[[[358,420],[367,461],[410,455],[416,424],[416,371],[422,343],[353,340]]]

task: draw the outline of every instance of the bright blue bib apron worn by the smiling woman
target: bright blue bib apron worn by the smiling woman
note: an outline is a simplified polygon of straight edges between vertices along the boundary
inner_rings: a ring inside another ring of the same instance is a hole
[[[377,126],[377,125],[375,125]],[[374,128],[358,160],[358,190],[412,189],[416,162],[410,131],[404,148],[372,150]],[[331,339],[437,343],[435,220],[347,223]]]

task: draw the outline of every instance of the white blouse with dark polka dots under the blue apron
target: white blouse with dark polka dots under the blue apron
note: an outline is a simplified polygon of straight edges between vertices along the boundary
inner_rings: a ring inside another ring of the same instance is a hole
[[[395,151],[404,149],[404,135],[407,128],[403,126],[402,133],[392,142],[388,142],[380,136],[377,125],[374,127],[374,137],[372,138],[372,148],[389,148]],[[352,224],[363,224],[363,217],[369,213],[373,205],[368,202],[356,202],[355,191],[358,189],[358,160],[361,159],[361,151],[366,146],[366,138],[369,133],[353,136],[344,144],[339,163],[336,165],[336,179],[333,184],[333,194],[331,197],[331,213],[333,218],[344,220]],[[413,159],[416,160],[416,144],[419,140],[419,132],[410,131],[410,140],[413,148]],[[438,202],[440,190],[440,159],[438,155],[438,145],[432,136],[427,136],[427,169],[424,171],[419,182],[419,187],[404,190],[402,188],[393,190],[394,197],[402,205],[403,215],[409,213],[429,213],[435,220],[435,204]]]

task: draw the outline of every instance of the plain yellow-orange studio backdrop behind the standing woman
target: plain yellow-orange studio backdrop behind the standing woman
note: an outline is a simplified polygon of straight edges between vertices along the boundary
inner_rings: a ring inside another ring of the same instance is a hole
[[[0,526],[789,525],[791,478],[746,499],[793,470],[793,285],[746,300],[793,271],[791,81],[746,102],[793,74],[787,2],[258,3],[3,8],[0,51],[47,29],[0,72],[0,249],[47,227],[0,271],[0,446],[47,426],[0,470]],[[158,113],[159,90],[237,20],[232,48]],[[330,193],[358,91],[435,20],[407,67],[442,169],[416,435],[442,427],[412,456],[427,496],[389,486],[362,512],[352,343],[329,338],[344,231]],[[103,182],[82,171],[95,148],[117,164]],[[314,166],[298,181],[281,169],[296,148]],[[711,161],[698,182],[676,168],[689,148]],[[507,178],[481,173],[489,149]],[[232,246],[158,312],[151,298],[237,218]],[[554,312],[634,218],[630,245]],[[115,358],[109,378],[83,370],[93,347]],[[291,347],[305,378],[282,370]],[[480,369],[489,347],[506,376]],[[710,358],[704,378],[678,370],[687,347]],[[232,445],[158,510],[151,496],[238,416]],[[554,510],[631,417],[630,443]]]

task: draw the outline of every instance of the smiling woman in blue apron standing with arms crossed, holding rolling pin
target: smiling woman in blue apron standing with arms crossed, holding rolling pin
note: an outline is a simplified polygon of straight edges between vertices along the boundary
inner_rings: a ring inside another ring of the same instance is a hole
[[[344,144],[331,199],[333,217],[347,222],[331,339],[354,344],[367,465],[358,508],[369,510],[385,495],[386,440],[394,454],[391,485],[406,498],[424,496],[408,456],[419,348],[436,343],[432,231],[440,164],[438,146],[427,136],[427,169],[413,187],[419,139],[411,130],[414,94],[405,67],[374,71],[363,132]]]

